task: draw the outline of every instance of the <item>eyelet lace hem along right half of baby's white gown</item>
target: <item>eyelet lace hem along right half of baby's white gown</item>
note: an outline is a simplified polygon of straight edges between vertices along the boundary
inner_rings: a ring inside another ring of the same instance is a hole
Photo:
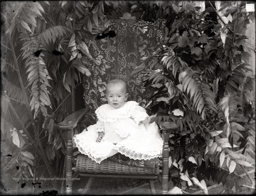
[[[151,158],[157,158],[162,157],[162,150],[159,151],[150,151],[147,154],[144,153],[137,153],[136,151],[132,151],[130,149],[125,148],[124,146],[119,147],[117,149],[119,153],[122,153],[125,156],[128,156],[129,158],[138,159],[138,160],[149,160]]]

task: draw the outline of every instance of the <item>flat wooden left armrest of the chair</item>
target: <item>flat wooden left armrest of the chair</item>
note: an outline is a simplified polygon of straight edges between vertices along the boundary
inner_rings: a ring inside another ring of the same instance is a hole
[[[89,110],[89,108],[80,109],[78,111],[73,112],[73,114],[66,116],[62,122],[57,124],[58,128],[61,130],[74,129],[75,126],[78,125],[78,121],[80,121],[82,116],[84,116]]]

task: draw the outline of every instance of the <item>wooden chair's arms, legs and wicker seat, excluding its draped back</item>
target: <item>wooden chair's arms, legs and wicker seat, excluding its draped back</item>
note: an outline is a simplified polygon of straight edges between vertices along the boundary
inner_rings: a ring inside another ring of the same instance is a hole
[[[66,141],[66,159],[65,159],[65,178],[66,178],[66,193],[72,193],[73,180],[78,175],[90,177],[84,190],[81,192],[85,194],[92,185],[95,177],[101,178],[142,178],[149,179],[149,185],[153,194],[156,194],[154,188],[155,179],[159,179],[162,183],[162,194],[167,194],[168,178],[169,178],[169,133],[170,131],[176,131],[178,126],[171,122],[162,122],[160,124],[163,130],[163,163],[156,168],[139,168],[128,165],[122,165],[115,163],[112,160],[103,160],[102,163],[98,164],[92,161],[90,158],[84,155],[78,155],[76,158],[75,167],[73,167],[73,129],[78,125],[78,121],[84,116],[89,109],[81,109],[75,111],[73,114],[67,116],[60,124],[58,128],[65,131],[67,134]],[[160,169],[161,167],[161,169]],[[74,173],[73,173],[74,171]],[[160,178],[159,178],[160,177]]]

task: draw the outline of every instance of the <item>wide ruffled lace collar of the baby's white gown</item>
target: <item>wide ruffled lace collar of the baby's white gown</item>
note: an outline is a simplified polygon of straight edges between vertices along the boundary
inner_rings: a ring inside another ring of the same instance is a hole
[[[114,109],[109,104],[104,104],[96,109],[95,114],[100,121],[114,122],[117,119],[129,118],[138,105],[137,102],[129,101],[124,104],[124,107]]]

